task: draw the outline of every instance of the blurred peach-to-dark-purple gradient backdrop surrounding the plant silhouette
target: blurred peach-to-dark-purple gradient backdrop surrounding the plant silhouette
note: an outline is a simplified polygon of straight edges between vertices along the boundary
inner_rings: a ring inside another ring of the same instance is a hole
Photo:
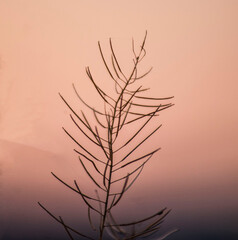
[[[180,229],[171,240],[238,239],[237,11],[235,0],[0,1],[0,239],[67,239],[37,201],[89,230],[83,202],[50,174],[89,186],[58,92],[80,111],[74,83],[100,107],[85,73],[110,89],[97,41],[107,54],[111,37],[128,71],[132,38],[138,49],[146,30],[141,70],[153,70],[143,85],[175,106],[157,119],[163,127],[143,148],[162,149],[118,212],[168,207],[161,234]]]

